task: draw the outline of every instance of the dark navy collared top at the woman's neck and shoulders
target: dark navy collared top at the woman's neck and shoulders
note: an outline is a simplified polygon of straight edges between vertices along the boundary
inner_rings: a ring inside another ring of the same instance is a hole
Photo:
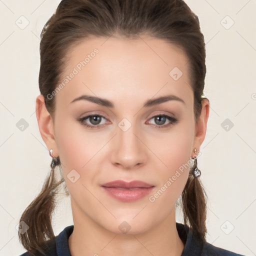
[[[49,240],[47,246],[44,246],[45,255],[47,256],[71,256],[68,247],[68,237],[73,231],[73,225],[66,226],[54,240]],[[180,256],[244,256],[216,247],[208,242],[202,242],[191,229],[184,224],[176,222],[176,228],[180,239],[185,246]],[[19,256],[31,256],[27,251]],[[41,256],[35,253],[35,256]]]

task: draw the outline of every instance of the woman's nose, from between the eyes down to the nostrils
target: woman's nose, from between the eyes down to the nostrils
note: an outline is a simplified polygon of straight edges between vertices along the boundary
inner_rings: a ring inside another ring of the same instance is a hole
[[[135,118],[132,120],[134,121]],[[114,164],[118,163],[125,168],[132,168],[134,165],[145,161],[145,146],[140,141],[137,126],[127,118],[123,118],[117,124],[116,143],[112,154]]]

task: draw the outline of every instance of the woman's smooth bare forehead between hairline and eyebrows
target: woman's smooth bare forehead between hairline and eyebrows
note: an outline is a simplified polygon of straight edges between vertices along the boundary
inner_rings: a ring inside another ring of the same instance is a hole
[[[112,101],[166,93],[187,101],[192,96],[186,54],[161,39],[91,36],[71,47],[64,63],[60,82],[75,74],[57,95],[66,104],[81,94]]]

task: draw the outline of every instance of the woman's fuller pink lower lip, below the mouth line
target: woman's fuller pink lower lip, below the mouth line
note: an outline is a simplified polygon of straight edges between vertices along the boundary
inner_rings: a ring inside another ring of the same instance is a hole
[[[113,198],[123,201],[123,202],[132,202],[136,201],[148,193],[151,192],[153,186],[150,187],[137,187],[137,188],[119,188],[119,187],[106,187],[102,186],[105,191],[111,195]]]

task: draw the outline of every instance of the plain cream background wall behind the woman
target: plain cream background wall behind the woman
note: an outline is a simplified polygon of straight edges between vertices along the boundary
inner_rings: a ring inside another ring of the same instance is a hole
[[[208,195],[207,241],[256,255],[256,1],[185,2],[198,15],[206,43],[204,94],[210,113],[198,168]],[[15,227],[50,171],[35,98],[39,34],[58,3],[0,0],[0,255],[4,256],[25,251]],[[23,25],[29,22],[23,29],[16,24],[20,19]],[[28,123],[23,131],[16,126],[21,118]],[[62,196],[54,212],[55,235],[73,224],[69,200]],[[178,209],[176,213],[176,221],[182,222]]]

